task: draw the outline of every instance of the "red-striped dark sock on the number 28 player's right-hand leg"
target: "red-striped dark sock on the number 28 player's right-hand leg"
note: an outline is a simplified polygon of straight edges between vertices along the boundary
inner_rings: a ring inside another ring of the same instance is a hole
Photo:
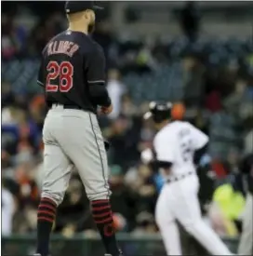
[[[93,220],[100,231],[106,253],[112,256],[121,256],[122,252],[117,246],[114,233],[113,215],[109,199],[91,201],[91,211]]]

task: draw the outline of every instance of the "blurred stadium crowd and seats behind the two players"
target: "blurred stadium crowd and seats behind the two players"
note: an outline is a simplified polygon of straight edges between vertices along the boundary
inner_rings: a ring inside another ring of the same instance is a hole
[[[203,212],[236,249],[246,195],[240,165],[253,153],[252,3],[101,5],[105,10],[93,37],[106,54],[114,112],[100,124],[112,143],[114,220],[126,255],[164,251],[153,221],[162,180],[140,160],[154,135],[153,125],[141,118],[151,100],[173,101],[174,118],[189,120],[209,135],[198,168]],[[47,113],[36,74],[42,48],[66,29],[63,6],[2,2],[2,251],[11,255],[34,249]],[[102,255],[94,228],[73,173],[55,223],[53,255]]]

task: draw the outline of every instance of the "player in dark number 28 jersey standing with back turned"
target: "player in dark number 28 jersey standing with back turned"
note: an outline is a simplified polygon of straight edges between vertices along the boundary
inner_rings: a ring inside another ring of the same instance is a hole
[[[122,255],[113,230],[105,145],[97,120],[113,110],[105,88],[105,58],[89,34],[94,29],[92,2],[66,2],[68,30],[52,38],[42,53],[38,84],[45,90],[43,128],[44,182],[37,215],[37,254],[49,255],[49,236],[77,168],[91,203],[107,256]]]

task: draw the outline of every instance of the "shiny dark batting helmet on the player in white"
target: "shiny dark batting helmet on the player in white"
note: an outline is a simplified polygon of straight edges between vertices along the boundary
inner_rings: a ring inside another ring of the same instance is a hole
[[[152,101],[149,104],[149,112],[147,112],[143,117],[144,119],[153,118],[155,123],[161,123],[166,119],[171,118],[171,102],[155,102]]]

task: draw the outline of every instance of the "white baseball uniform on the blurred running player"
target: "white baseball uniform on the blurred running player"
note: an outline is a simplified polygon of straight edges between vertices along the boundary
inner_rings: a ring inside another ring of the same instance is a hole
[[[193,153],[205,146],[207,141],[206,134],[182,121],[169,123],[154,138],[156,159],[172,163],[169,173],[163,172],[166,183],[155,209],[155,219],[167,255],[181,255],[176,220],[211,254],[233,255],[201,217],[199,181],[193,164]]]

